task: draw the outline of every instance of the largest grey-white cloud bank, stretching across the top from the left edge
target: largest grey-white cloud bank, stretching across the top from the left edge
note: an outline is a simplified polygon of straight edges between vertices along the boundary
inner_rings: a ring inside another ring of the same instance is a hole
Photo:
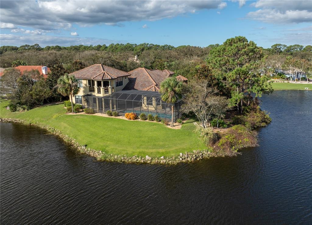
[[[1,21],[42,30],[71,29],[72,24],[120,25],[124,21],[155,21],[203,9],[223,9],[212,1],[2,1]],[[12,29],[12,28],[11,28]]]

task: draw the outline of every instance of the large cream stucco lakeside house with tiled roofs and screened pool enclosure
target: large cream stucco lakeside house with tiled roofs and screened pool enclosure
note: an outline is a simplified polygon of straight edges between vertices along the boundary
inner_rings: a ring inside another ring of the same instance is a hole
[[[72,96],[73,102],[83,108],[92,108],[97,113],[115,111],[158,115],[171,120],[171,103],[161,100],[160,83],[174,72],[137,68],[124,72],[102,64],[95,64],[71,73],[78,79],[80,91]],[[180,76],[183,81],[187,78]],[[182,100],[174,104],[174,120],[181,117]]]

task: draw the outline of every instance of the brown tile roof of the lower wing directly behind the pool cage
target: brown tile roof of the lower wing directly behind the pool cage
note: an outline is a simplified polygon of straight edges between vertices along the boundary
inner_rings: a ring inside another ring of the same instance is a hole
[[[169,70],[149,70],[146,68],[137,68],[129,72],[129,82],[123,90],[145,90],[159,91],[160,83],[174,74]]]

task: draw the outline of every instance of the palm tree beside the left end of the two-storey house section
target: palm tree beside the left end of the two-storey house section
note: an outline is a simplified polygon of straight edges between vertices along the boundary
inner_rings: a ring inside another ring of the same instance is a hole
[[[71,111],[74,113],[72,96],[79,93],[78,82],[74,75],[68,75],[66,73],[64,76],[61,76],[57,80],[57,91],[63,96],[70,97]]]

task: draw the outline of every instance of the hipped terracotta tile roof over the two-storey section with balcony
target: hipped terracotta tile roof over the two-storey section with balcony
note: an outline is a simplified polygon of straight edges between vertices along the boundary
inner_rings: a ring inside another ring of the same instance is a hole
[[[129,76],[130,74],[102,64],[94,64],[84,69],[71,73],[76,78],[93,80],[111,80],[120,76]]]

